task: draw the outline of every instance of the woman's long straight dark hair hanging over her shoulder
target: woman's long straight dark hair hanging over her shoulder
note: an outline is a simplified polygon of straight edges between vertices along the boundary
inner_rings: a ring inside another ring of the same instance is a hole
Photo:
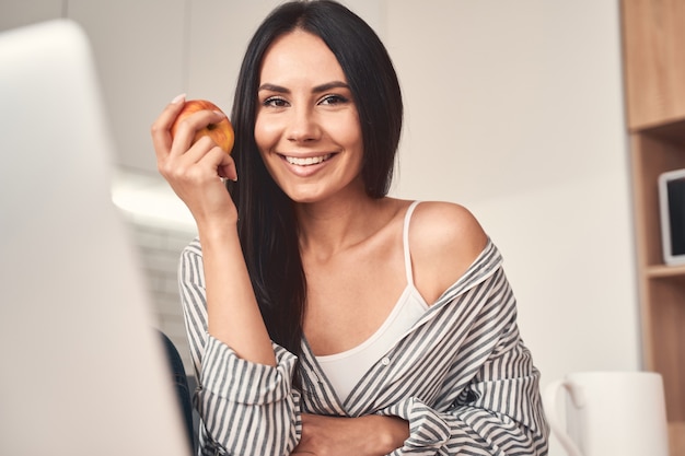
[[[390,189],[403,103],[397,75],[381,40],[363,20],[335,1],[292,1],[278,7],[247,46],[231,113],[240,182],[228,187],[237,208],[243,254],[269,336],[298,354],[306,279],[294,208],[266,169],[254,137],[264,55],[276,38],[294,30],[321,37],[345,72],[361,124],[362,179],[372,198],[382,198]]]

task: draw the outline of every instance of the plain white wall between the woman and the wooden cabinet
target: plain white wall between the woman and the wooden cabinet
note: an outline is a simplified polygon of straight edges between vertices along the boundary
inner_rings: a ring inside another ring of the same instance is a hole
[[[638,369],[618,2],[385,5],[407,109],[396,194],[478,217],[543,387]]]

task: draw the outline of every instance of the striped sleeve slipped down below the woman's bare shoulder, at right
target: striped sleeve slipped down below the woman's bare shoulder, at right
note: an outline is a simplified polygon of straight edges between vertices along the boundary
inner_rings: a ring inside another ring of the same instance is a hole
[[[439,391],[427,387],[380,411],[409,422],[409,439],[392,455],[546,455],[539,373],[503,271],[442,307],[413,337],[429,341],[423,362],[444,373]]]

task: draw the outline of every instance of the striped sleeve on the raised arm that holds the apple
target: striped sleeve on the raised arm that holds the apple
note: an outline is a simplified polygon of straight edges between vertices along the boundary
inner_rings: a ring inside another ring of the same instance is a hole
[[[200,455],[288,455],[301,434],[300,395],[292,389],[295,356],[274,344],[277,365],[240,359],[207,332],[200,246],[182,253],[179,290],[193,364]]]

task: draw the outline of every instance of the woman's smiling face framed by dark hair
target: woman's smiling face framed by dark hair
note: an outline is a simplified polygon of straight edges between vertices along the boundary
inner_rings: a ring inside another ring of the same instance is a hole
[[[340,65],[317,36],[294,31],[267,50],[255,140],[276,183],[297,202],[363,191],[357,106]]]

